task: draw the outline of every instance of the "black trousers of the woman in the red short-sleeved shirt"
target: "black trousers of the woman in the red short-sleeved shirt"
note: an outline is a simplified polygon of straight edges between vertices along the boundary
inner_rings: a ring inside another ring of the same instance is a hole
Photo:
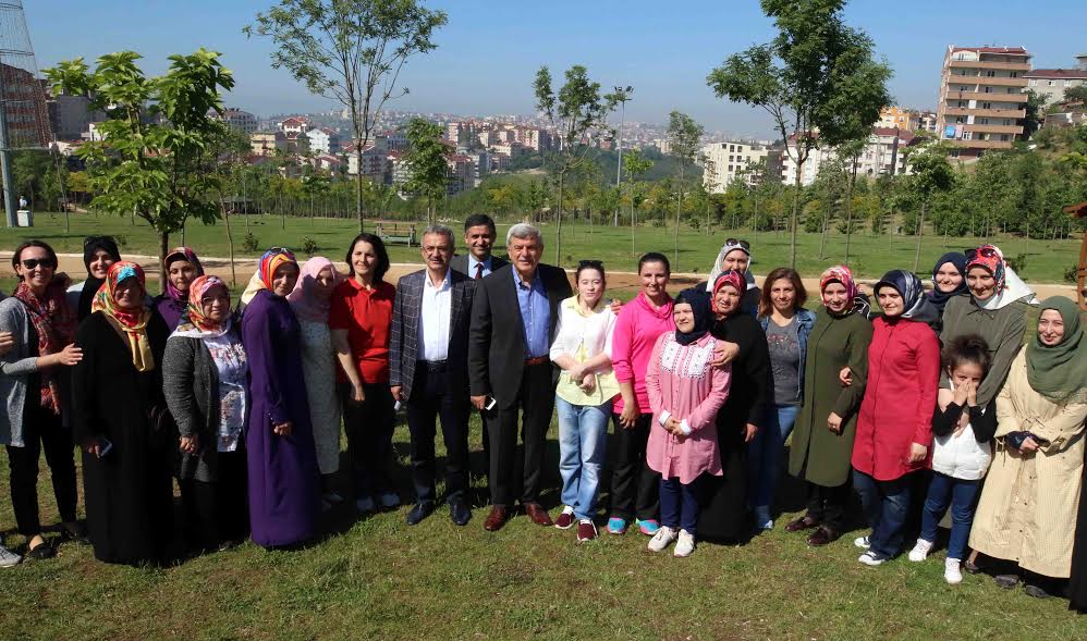
[[[388,384],[363,383],[363,392],[366,399],[355,403],[351,384],[340,385],[347,459],[351,460],[356,498],[392,491],[389,467],[396,420]]]

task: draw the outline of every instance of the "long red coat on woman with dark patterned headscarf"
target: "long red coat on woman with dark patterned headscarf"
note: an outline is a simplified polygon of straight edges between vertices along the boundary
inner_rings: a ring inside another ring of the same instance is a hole
[[[924,322],[877,318],[872,326],[852,463],[877,481],[893,481],[930,465],[940,342]],[[912,443],[929,448],[926,460],[908,463]]]

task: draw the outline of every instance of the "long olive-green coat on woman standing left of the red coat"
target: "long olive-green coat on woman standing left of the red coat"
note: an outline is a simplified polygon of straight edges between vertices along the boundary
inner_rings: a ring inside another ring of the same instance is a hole
[[[794,477],[825,488],[850,480],[857,410],[868,381],[871,333],[871,323],[859,313],[834,318],[826,307],[816,313],[804,368],[804,407],[793,428],[789,456],[789,473]],[[844,367],[853,371],[848,387],[838,380]],[[840,434],[827,428],[832,411],[842,417]]]

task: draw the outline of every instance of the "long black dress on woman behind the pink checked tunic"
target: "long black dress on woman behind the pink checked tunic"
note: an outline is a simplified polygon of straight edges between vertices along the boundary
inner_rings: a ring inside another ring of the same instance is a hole
[[[724,543],[746,540],[750,533],[747,516],[747,423],[762,426],[770,386],[770,350],[758,321],[744,311],[713,323],[716,338],[735,343],[740,354],[732,361],[732,387],[724,407],[717,414],[717,440],[721,447],[721,477],[706,477],[698,516],[698,539]]]

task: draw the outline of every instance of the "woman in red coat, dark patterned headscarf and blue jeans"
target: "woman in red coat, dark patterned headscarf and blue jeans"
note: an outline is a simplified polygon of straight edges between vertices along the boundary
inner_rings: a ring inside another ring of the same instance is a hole
[[[929,467],[940,342],[928,323],[936,308],[915,274],[892,270],[876,283],[883,316],[872,321],[868,380],[853,443],[853,486],[871,534],[854,543],[857,559],[882,565],[902,546],[913,472]]]

